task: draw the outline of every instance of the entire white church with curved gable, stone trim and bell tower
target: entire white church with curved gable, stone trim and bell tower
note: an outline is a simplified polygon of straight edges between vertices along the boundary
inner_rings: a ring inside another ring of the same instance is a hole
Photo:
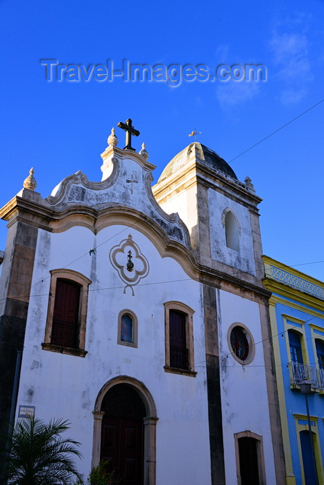
[[[250,179],[197,142],[153,188],[130,138],[101,157],[1,209],[2,423],[67,418],[80,470],[129,485],[284,484]]]

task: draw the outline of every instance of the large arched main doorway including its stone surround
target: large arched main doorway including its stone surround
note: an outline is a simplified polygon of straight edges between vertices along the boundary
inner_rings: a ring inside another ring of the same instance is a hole
[[[94,408],[92,466],[110,459],[121,485],[155,485],[157,420],[143,382],[128,376],[106,382]]]

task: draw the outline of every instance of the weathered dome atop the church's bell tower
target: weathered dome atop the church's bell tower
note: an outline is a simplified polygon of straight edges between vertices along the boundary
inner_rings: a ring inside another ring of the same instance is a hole
[[[190,143],[190,145],[184,148],[184,150],[178,153],[176,157],[173,157],[173,159],[169,161],[169,164],[167,164],[167,166],[164,168],[158,182],[160,182],[163,179],[166,179],[167,177],[170,177],[170,175],[175,173],[182,166],[185,166],[189,158],[191,158],[192,151],[195,148],[196,148],[196,157],[198,159],[205,162],[205,164],[212,166],[212,168],[219,170],[224,175],[228,177],[232,177],[232,179],[237,180],[237,176],[235,175],[234,170],[232,170],[232,168],[228,165],[228,163],[224,159],[219,157],[219,155],[217,155],[217,153],[214,152],[213,150],[210,150],[210,148],[207,148],[207,146],[202,145],[201,143],[195,142],[195,143]]]

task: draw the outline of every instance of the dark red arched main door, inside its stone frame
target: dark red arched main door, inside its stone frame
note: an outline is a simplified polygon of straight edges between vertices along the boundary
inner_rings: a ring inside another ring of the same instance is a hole
[[[144,422],[146,410],[139,394],[129,385],[112,387],[101,403],[100,459],[108,461],[121,484],[142,485]]]

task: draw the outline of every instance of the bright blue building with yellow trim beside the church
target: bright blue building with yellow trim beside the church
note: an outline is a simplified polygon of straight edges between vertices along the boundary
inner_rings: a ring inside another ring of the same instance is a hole
[[[324,283],[264,256],[287,485],[324,484]],[[312,459],[307,396],[316,467]],[[315,472],[316,468],[316,472]]]

